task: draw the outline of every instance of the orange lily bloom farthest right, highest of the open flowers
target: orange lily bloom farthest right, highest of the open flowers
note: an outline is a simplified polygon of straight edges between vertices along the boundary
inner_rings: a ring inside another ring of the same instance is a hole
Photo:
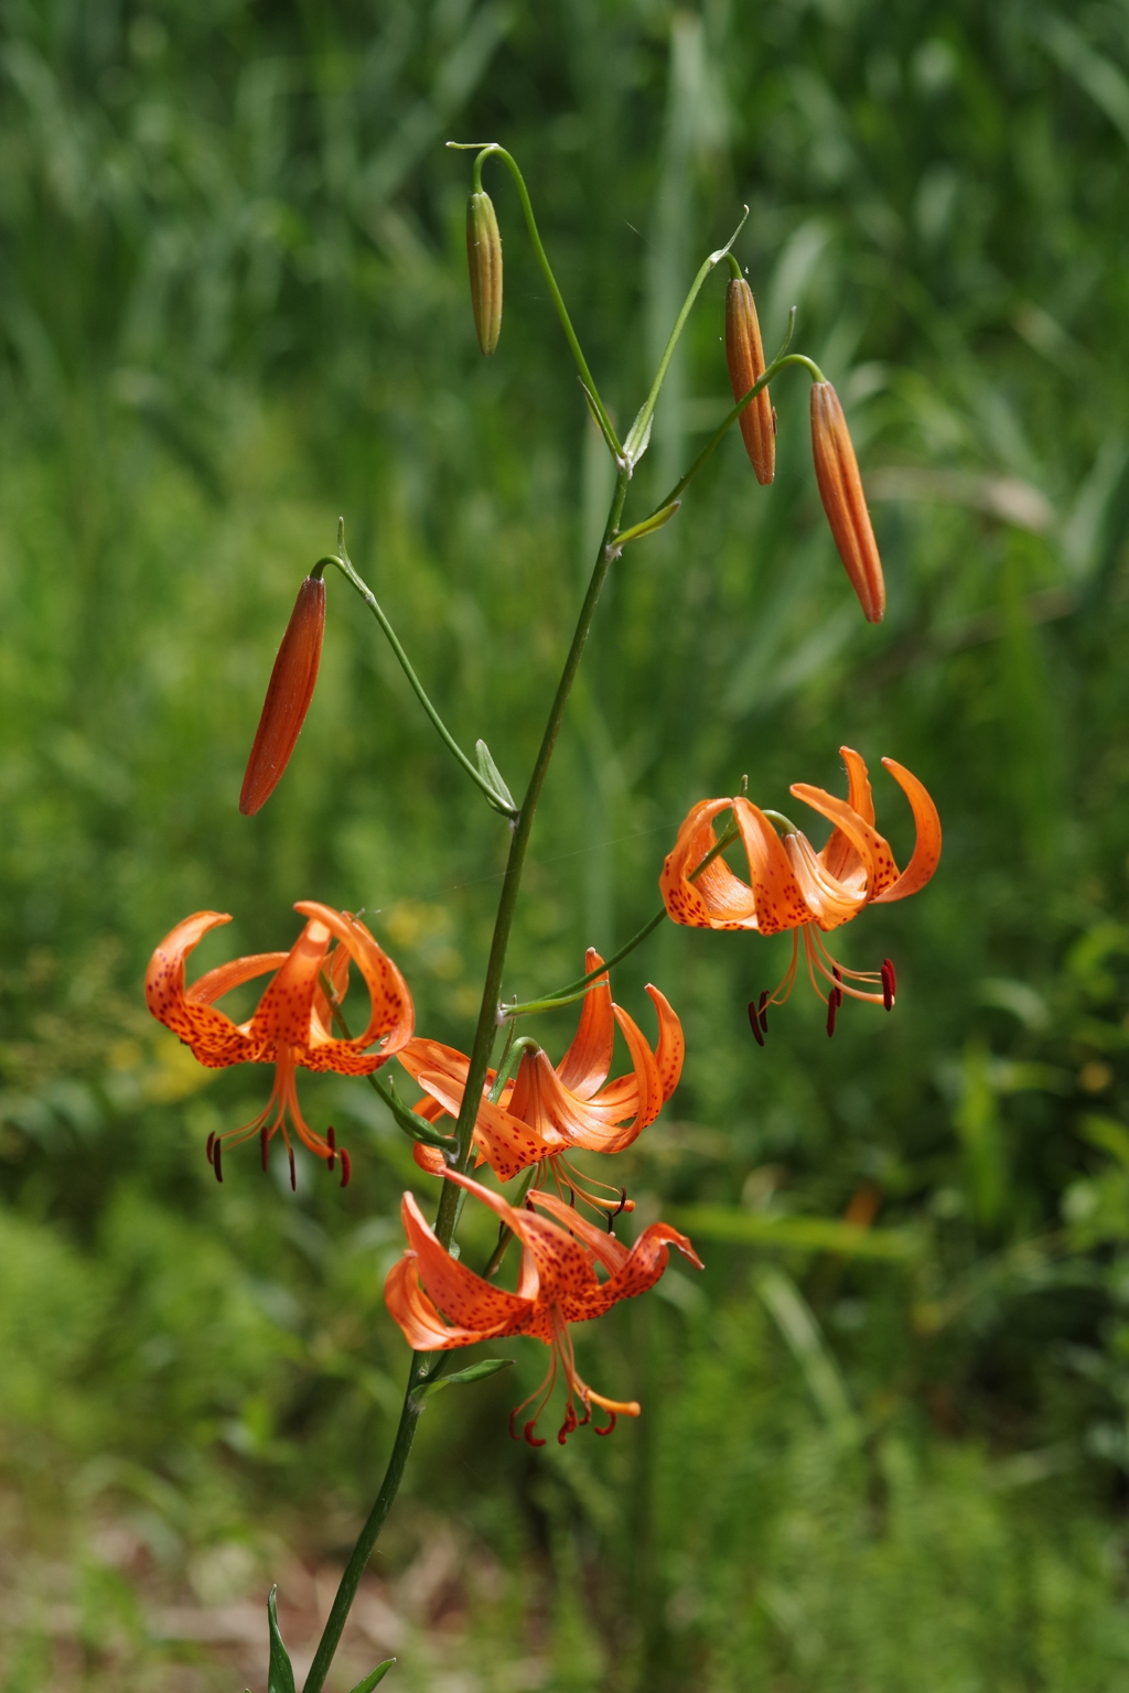
[[[787,818],[779,818],[785,828],[782,836],[777,835],[768,816],[738,794],[733,799],[699,801],[682,823],[674,852],[662,869],[658,885],[667,914],[675,923],[704,929],[757,929],[760,935],[794,931],[792,963],[784,980],[772,994],[763,992],[757,1006],[748,1007],[760,1045],[767,1029],[767,1007],[784,1004],[792,992],[801,935],[807,975],[828,1006],[828,1034],[834,1033],[834,1014],[843,1004],[843,994],[890,1009],[897,990],[890,960],[884,960],[882,970],[848,970],[831,957],[819,931],[850,923],[863,906],[884,906],[916,894],[941,857],[941,819],[933,799],[904,765],[884,758],[882,764],[906,792],[917,826],[912,857],[899,872],[889,843],[873,826],[867,765],[850,747],[841,747],[840,752],[850,782],[846,799],[836,799],[807,782],[794,782],[790,789],[834,824],[823,852],[816,852]],[[748,857],[748,882],[735,875],[721,857],[691,880],[696,867],[718,845],[713,819],[719,811],[733,813]],[[828,984],[826,992],[818,977]],[[851,984],[873,984],[877,990]]]

